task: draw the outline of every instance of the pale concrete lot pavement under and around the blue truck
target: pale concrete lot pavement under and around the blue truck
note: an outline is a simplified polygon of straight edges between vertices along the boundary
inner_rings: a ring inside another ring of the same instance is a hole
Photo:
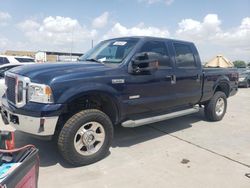
[[[201,111],[116,128],[110,155],[89,166],[70,167],[53,142],[16,136],[19,146],[40,150],[39,187],[250,187],[250,89],[229,99],[220,122],[207,122]]]

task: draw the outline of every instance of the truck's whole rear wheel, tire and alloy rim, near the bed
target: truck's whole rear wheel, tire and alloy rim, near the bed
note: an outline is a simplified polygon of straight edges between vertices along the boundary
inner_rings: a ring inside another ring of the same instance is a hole
[[[218,91],[205,105],[205,116],[210,121],[220,121],[227,110],[227,97],[225,93]]]

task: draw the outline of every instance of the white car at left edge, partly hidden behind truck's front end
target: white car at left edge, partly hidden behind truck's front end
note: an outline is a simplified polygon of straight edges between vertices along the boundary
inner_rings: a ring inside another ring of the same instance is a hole
[[[4,80],[4,73],[14,67],[22,66],[22,65],[29,65],[33,63],[8,63],[4,65],[0,65],[0,107],[2,106],[2,96],[5,92],[5,80]]]

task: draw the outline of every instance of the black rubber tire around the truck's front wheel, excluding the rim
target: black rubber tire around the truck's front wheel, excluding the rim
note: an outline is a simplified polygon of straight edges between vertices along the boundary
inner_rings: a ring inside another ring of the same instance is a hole
[[[91,155],[81,155],[75,149],[75,135],[88,122],[98,122],[105,131],[105,138],[100,149]],[[63,158],[73,166],[88,165],[103,159],[109,152],[113,139],[113,124],[110,118],[100,110],[83,110],[67,120],[58,136],[58,149]]]

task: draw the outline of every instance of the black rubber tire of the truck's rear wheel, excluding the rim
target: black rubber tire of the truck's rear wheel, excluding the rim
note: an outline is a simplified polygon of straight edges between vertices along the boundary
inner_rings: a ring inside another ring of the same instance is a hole
[[[224,110],[221,114],[217,114],[216,113],[216,104],[217,101],[219,99],[223,99],[224,101]],[[209,121],[220,121],[227,110],[227,96],[225,95],[225,93],[218,91],[214,94],[214,96],[212,97],[212,99],[210,101],[208,101],[208,103],[205,105],[205,116]]]

